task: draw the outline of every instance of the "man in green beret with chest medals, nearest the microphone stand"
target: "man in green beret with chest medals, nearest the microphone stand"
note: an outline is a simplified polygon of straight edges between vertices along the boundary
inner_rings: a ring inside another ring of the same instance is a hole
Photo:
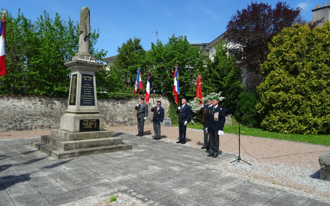
[[[219,151],[219,135],[223,135],[223,126],[225,124],[225,110],[219,104],[219,98],[213,97],[213,106],[209,108],[209,121],[207,123],[207,132],[210,139],[210,154],[208,157],[216,158]]]

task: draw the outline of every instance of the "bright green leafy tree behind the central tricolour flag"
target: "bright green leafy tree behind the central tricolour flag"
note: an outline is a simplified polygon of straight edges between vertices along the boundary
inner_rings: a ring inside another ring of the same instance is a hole
[[[172,94],[173,73],[176,66],[180,69],[180,92],[186,97],[194,97],[197,74],[204,74],[205,60],[201,49],[192,46],[186,36],[173,36],[167,44],[157,41],[151,43],[147,65],[152,73],[153,89],[156,94]]]

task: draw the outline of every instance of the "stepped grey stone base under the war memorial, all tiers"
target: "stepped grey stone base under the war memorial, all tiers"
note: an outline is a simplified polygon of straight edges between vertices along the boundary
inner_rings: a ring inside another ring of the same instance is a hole
[[[40,142],[31,146],[55,159],[65,159],[85,155],[117,152],[132,149],[121,137],[114,137],[111,131],[69,132],[51,130],[50,135],[41,136]]]

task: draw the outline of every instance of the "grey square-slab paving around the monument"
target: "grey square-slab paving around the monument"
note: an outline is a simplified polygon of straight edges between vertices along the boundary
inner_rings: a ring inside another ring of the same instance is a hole
[[[40,137],[2,139],[0,205],[92,205],[115,193],[138,205],[330,205],[203,166],[233,161],[233,154],[210,158],[205,150],[150,136],[115,136],[133,150],[56,160],[30,146]]]

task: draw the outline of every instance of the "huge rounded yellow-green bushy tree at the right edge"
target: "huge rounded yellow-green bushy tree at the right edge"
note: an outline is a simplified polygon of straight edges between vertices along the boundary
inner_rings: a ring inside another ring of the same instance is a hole
[[[330,23],[294,25],[269,45],[257,87],[261,127],[269,131],[330,134]]]

